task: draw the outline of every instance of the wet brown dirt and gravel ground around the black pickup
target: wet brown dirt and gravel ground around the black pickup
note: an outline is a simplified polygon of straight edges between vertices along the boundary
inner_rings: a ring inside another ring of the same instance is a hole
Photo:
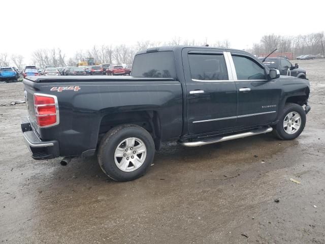
[[[32,160],[20,132],[25,105],[4,106],[23,100],[23,84],[0,84],[0,241],[325,243],[325,59],[298,63],[312,107],[299,138],[166,143],[145,176],[124,183],[107,179],[96,158]]]

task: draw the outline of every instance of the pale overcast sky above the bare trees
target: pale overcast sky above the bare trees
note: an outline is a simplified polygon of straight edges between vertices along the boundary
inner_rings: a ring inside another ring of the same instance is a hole
[[[208,43],[228,39],[243,49],[266,34],[325,30],[323,1],[1,1],[0,53],[61,48],[67,56],[93,45],[174,37]],[[5,10],[5,11],[4,11]]]

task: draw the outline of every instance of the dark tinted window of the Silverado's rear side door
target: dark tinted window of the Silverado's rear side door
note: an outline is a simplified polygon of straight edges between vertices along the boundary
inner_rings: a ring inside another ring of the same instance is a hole
[[[188,54],[188,62],[192,79],[229,79],[223,54]]]

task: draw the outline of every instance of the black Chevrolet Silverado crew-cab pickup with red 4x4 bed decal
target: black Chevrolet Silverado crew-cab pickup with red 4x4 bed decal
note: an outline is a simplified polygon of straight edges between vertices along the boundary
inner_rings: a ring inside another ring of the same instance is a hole
[[[23,136],[37,160],[98,155],[110,178],[132,180],[164,141],[184,146],[264,134],[298,137],[309,81],[280,76],[251,54],[159,47],[136,54],[131,76],[26,77]]]

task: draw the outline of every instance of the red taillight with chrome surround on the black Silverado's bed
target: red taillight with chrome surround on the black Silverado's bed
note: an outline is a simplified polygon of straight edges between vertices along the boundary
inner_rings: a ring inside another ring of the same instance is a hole
[[[50,127],[59,124],[59,111],[56,96],[34,94],[35,115],[39,127]]]

